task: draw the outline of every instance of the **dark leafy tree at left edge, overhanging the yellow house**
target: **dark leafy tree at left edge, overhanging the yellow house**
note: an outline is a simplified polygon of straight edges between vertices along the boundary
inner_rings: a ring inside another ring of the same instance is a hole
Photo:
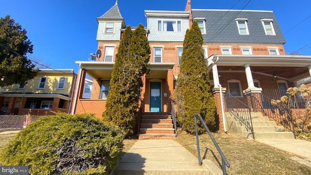
[[[26,56],[33,53],[26,33],[10,16],[0,18],[0,87],[23,84],[37,74]]]

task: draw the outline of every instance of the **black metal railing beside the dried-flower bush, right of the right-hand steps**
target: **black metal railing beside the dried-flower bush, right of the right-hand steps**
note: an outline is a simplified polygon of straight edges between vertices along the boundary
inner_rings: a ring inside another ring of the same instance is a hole
[[[261,109],[260,112],[264,116],[273,119],[274,121],[276,121],[276,123],[281,124],[284,128],[293,132],[294,138],[296,139],[292,110],[289,108],[289,105],[286,106],[285,104],[282,103],[281,104],[276,103],[276,100],[271,99],[262,94],[261,94],[262,103],[260,103],[257,98],[252,96],[251,93],[249,94],[249,97],[251,98],[253,106],[260,106]]]

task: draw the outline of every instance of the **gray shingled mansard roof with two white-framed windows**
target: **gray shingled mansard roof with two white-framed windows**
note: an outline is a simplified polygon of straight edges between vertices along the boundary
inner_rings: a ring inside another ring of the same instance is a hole
[[[192,18],[206,19],[205,43],[285,43],[272,11],[192,9]],[[249,35],[239,35],[236,18],[247,18]],[[273,19],[276,35],[265,34],[261,19]]]

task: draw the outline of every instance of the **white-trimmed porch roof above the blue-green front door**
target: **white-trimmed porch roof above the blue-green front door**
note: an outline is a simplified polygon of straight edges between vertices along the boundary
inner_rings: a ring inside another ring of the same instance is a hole
[[[111,78],[114,62],[104,61],[76,61],[82,69],[86,69],[94,79]],[[167,70],[173,69],[175,63],[154,63],[149,62],[150,73],[148,78],[166,78]]]

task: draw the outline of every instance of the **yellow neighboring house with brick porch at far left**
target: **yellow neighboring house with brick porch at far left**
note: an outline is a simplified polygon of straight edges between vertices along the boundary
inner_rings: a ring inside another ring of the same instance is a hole
[[[74,70],[40,69],[23,85],[0,88],[0,110],[14,115],[68,113],[75,79]]]

